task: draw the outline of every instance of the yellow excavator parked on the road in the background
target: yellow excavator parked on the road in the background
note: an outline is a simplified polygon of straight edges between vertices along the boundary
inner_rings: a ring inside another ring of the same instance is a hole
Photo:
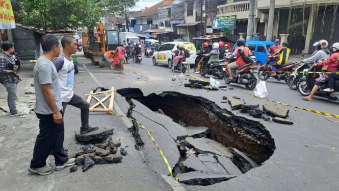
[[[99,67],[106,67],[103,54],[107,51],[115,51],[119,42],[119,31],[117,29],[106,30],[101,21],[97,30],[83,32],[84,55],[91,58],[92,64],[99,65]]]

